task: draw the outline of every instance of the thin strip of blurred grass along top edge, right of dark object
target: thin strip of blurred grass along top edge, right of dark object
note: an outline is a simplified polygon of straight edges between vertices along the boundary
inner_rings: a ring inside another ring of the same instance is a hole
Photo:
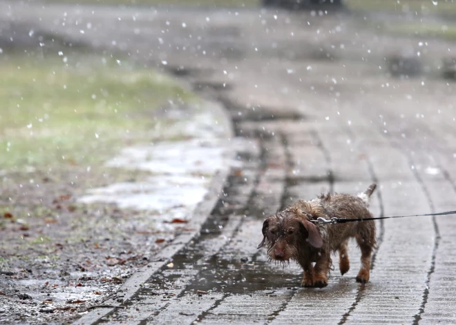
[[[348,8],[354,10],[408,11],[429,14],[455,14],[455,0],[345,0]]]

